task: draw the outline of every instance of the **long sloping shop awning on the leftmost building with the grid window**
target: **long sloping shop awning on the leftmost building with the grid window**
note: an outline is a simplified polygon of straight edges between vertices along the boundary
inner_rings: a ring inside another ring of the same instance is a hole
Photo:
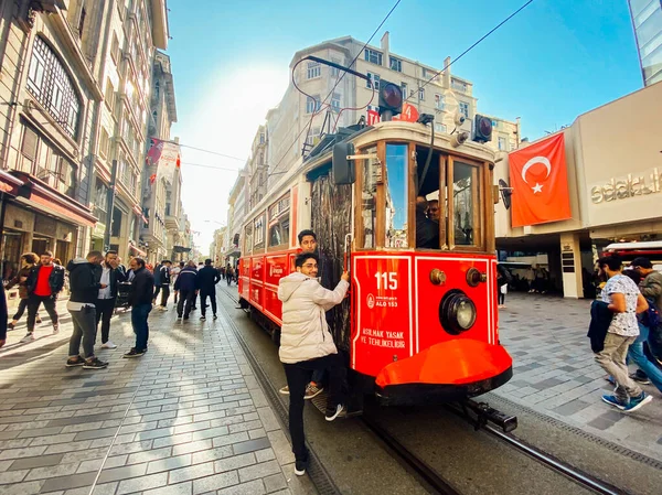
[[[11,175],[23,182],[19,187],[17,202],[39,209],[46,215],[55,216],[64,222],[70,222],[83,227],[94,227],[97,218],[92,211],[45,182],[25,172],[12,170]]]

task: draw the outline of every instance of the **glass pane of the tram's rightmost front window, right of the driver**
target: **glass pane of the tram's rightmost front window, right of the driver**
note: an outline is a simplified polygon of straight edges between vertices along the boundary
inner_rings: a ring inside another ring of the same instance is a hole
[[[478,166],[453,162],[452,205],[456,246],[476,246],[479,239]]]

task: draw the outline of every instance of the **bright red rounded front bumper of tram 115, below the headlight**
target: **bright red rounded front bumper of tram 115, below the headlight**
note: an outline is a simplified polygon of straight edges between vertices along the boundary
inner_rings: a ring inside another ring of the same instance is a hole
[[[385,403],[458,400],[505,384],[512,365],[501,345],[458,338],[384,366],[375,391]]]

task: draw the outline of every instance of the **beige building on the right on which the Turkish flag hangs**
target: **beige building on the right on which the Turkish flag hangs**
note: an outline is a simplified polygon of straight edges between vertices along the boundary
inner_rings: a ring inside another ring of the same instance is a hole
[[[583,277],[592,273],[607,245],[661,239],[662,162],[655,138],[662,132],[661,100],[662,84],[652,85],[580,115],[559,131],[572,218],[513,228],[501,202],[495,205],[496,248],[520,260],[547,255],[552,288],[581,298]],[[508,157],[494,168],[495,184],[500,179],[511,183]]]

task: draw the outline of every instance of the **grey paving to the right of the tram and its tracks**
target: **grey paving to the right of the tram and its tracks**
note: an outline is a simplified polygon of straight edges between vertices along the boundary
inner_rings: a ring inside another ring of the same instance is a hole
[[[514,376],[494,394],[662,460],[662,396],[654,386],[641,386],[653,401],[631,415],[600,399],[613,386],[586,336],[589,300],[512,293],[506,306],[500,338],[513,356]]]

